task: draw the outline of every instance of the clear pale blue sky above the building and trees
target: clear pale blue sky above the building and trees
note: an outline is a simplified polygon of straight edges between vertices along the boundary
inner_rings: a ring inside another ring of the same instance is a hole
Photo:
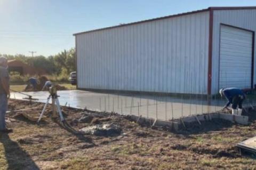
[[[255,0],[0,0],[0,54],[54,55],[75,47],[74,33],[209,6]]]

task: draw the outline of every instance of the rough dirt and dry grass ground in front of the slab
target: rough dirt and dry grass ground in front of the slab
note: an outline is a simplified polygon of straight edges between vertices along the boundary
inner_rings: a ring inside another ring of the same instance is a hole
[[[24,109],[28,102],[10,100],[9,110]],[[31,107],[38,113],[42,103]],[[0,134],[0,169],[256,169],[256,160],[239,156],[235,144],[253,137],[255,111],[249,126],[212,120],[179,132],[150,128],[131,122],[129,116],[86,112],[62,107],[67,125],[46,120],[39,126],[11,113],[7,126],[14,132]],[[79,123],[84,114],[91,115]],[[114,123],[121,134],[82,135],[78,129]],[[70,126],[69,126],[70,125]]]

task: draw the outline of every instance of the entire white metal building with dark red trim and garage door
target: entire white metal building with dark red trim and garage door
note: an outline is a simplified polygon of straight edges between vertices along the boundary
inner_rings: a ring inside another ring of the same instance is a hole
[[[77,88],[187,94],[252,88],[255,31],[256,6],[250,6],[77,33]]]

